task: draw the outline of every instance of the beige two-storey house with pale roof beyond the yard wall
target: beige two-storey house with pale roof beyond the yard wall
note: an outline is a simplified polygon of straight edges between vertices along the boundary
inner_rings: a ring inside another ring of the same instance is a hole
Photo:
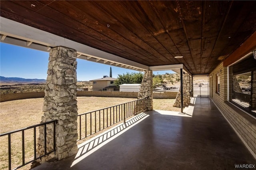
[[[92,91],[118,91],[114,84],[116,78],[104,76],[101,79],[94,79],[92,81]]]

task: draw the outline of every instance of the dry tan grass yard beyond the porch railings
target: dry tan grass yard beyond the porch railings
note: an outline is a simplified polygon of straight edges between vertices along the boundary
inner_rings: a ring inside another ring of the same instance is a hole
[[[39,124],[43,115],[43,98],[22,99],[0,103],[0,133],[17,130],[31,125]],[[108,97],[78,97],[78,114],[134,101],[132,98]],[[175,99],[153,99],[154,109],[180,111],[172,107]],[[84,130],[83,130],[84,131]],[[11,136],[12,139],[12,168],[21,164],[21,132]],[[0,169],[8,169],[7,136],[0,138]],[[25,161],[33,156],[33,132],[25,131]],[[29,169],[30,164],[20,169]]]

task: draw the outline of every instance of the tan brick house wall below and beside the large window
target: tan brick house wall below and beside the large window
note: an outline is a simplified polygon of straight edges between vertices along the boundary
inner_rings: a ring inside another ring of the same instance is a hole
[[[222,72],[220,73],[220,93],[218,94],[216,93],[216,74],[220,70]],[[213,91],[212,101],[256,158],[256,119],[228,102],[228,69],[223,67],[223,62],[210,75],[212,75],[210,83],[213,84],[210,87],[210,91]],[[229,78],[231,87],[232,76]]]

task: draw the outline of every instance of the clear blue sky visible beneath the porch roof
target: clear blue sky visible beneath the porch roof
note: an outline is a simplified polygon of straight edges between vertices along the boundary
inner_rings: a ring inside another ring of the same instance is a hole
[[[0,43],[0,75],[4,77],[22,77],[25,79],[46,79],[49,53]],[[126,72],[134,73],[138,71],[112,67],[112,77]],[[78,81],[89,81],[102,78],[108,75],[110,65],[77,59],[77,79]],[[173,73],[173,71],[154,71],[154,74]]]

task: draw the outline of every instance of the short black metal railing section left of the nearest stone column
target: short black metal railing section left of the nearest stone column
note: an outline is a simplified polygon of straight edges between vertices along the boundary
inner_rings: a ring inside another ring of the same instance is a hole
[[[52,152],[54,152],[55,154],[55,151],[56,151],[56,140],[55,140],[55,127],[56,127],[56,122],[57,120],[54,120],[54,121],[49,121],[49,122],[46,122],[46,123],[40,123],[38,125],[33,125],[33,126],[30,126],[30,127],[26,127],[26,128],[21,128],[19,130],[14,130],[14,131],[11,131],[11,132],[6,132],[6,133],[2,133],[0,134],[0,137],[3,137],[3,136],[8,136],[8,167],[9,167],[9,170],[12,169],[12,138],[11,138],[11,135],[12,134],[17,134],[18,132],[22,132],[22,165],[16,167],[16,168],[13,168],[13,169],[18,169],[22,166],[25,166],[26,164],[29,164],[31,162],[34,162],[35,160],[39,159],[39,158],[42,158],[43,156],[46,156]],[[52,138],[52,142],[53,142],[53,150],[50,150],[50,151],[47,151],[46,149],[46,126],[49,125],[49,124],[53,124],[53,138]],[[41,156],[36,156],[36,128],[39,127],[39,126],[43,126],[44,127],[44,154],[41,155]],[[34,133],[34,138],[33,138],[33,144],[34,144],[34,156],[33,156],[33,159],[32,160],[29,160],[29,161],[25,161],[25,130],[29,130],[29,129],[32,129],[33,128],[33,133]],[[4,140],[1,139],[1,142],[4,142]],[[15,154],[15,153],[14,153]],[[17,160],[16,160],[17,161]]]

